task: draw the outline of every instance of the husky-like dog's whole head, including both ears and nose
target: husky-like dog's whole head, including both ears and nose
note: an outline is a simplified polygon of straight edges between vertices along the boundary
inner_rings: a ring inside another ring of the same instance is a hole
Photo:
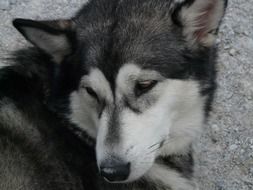
[[[14,25],[55,61],[54,103],[96,140],[101,174],[129,182],[199,134],[224,9],[223,0],[93,0],[72,20]]]

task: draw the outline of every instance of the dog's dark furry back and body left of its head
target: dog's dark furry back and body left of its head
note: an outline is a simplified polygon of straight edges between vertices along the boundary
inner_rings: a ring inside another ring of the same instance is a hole
[[[88,189],[95,189],[87,176],[95,167],[83,166],[92,151],[43,103],[50,74],[49,60],[42,55],[19,52],[16,65],[0,70],[0,189],[81,190],[79,176]]]

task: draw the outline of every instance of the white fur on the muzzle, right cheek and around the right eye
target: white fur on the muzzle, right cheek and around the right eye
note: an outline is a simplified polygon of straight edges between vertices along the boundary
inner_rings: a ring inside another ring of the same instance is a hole
[[[152,80],[162,78],[154,71],[142,70],[134,64],[125,65],[117,76],[117,96],[114,101],[120,104],[121,98],[133,91],[133,81],[148,77]],[[141,99],[153,99],[154,103],[143,113],[136,114],[129,109],[121,111],[119,144],[113,145],[113,148],[106,145],[104,141],[108,134],[105,128],[110,126],[103,123],[103,127],[99,128],[98,162],[110,155],[131,162],[132,172],[128,181],[147,173],[158,155],[185,153],[199,135],[203,123],[203,99],[196,81],[163,79],[148,94],[135,103],[138,104]],[[104,117],[109,115],[105,114]],[[108,120],[106,118],[104,122]],[[163,140],[165,145],[159,150],[159,142]]]

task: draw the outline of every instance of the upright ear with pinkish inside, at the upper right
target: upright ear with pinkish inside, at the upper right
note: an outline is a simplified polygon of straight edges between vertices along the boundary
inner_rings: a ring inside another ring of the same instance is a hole
[[[227,0],[184,0],[176,3],[172,18],[183,28],[190,45],[210,47],[224,15]]]

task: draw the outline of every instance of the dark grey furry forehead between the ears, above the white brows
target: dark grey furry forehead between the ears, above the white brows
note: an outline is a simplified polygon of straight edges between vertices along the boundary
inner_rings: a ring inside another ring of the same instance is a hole
[[[87,70],[99,68],[113,89],[118,73],[129,62],[167,75],[178,70],[185,61],[185,41],[181,29],[172,24],[171,6],[171,1],[163,0],[119,1],[114,9],[100,7],[104,17],[86,21],[79,30]]]

